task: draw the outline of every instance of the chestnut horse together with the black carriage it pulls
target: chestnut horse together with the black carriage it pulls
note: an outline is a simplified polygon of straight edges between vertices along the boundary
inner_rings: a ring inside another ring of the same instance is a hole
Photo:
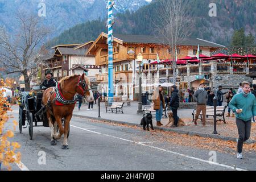
[[[22,92],[19,106],[19,131],[22,127],[28,127],[30,139],[33,138],[33,127],[44,126],[51,130],[51,144],[64,134],[63,149],[68,149],[69,122],[76,104],[76,93],[81,94],[88,102],[94,101],[90,89],[90,81],[83,73],[72,75],[61,79],[56,88],[50,87],[32,95],[29,92]],[[27,125],[26,125],[27,121]],[[42,125],[39,123],[42,122]],[[25,128],[26,128],[25,127]]]

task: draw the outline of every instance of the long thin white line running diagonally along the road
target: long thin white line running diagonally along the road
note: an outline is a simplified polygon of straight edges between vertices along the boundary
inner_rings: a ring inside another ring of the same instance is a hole
[[[113,135],[108,135],[108,134],[100,133],[100,132],[97,132],[97,131],[91,131],[91,130],[83,129],[83,128],[78,127],[78,126],[74,126],[74,125],[70,125],[70,126],[75,127],[75,128],[77,128],[77,129],[84,130],[84,131],[89,131],[89,132],[91,132],[91,133],[95,133],[95,134],[99,134],[99,135],[104,135],[104,136],[106,136],[106,137],[112,137],[112,138],[124,140],[124,141],[126,141],[126,142],[136,143],[136,144],[140,144],[140,145],[142,145],[142,146],[154,148],[154,149],[156,149],[156,150],[168,152],[168,153],[171,153],[171,154],[184,156],[185,158],[194,159],[194,160],[199,160],[200,162],[205,162],[205,163],[208,163],[208,164],[212,164],[212,165],[216,165],[216,166],[220,166],[220,167],[225,167],[225,168],[229,168],[229,169],[233,169],[233,170],[237,170],[237,171],[247,171],[246,169],[236,168],[236,167],[228,166],[228,165],[226,165],[226,164],[220,164],[220,163],[215,163],[215,162],[209,162],[209,160],[199,159],[199,158],[195,158],[195,157],[193,157],[193,156],[189,156],[189,155],[185,155],[185,154],[180,154],[180,153],[178,153],[178,152],[166,150],[166,149],[163,149],[163,148],[150,146],[150,145],[148,145],[148,144],[144,144],[144,143],[140,143],[140,142],[135,142],[135,141],[133,141],[133,140],[129,140],[129,139],[125,139],[125,138],[119,138],[119,137],[115,137],[115,136],[113,136]]]

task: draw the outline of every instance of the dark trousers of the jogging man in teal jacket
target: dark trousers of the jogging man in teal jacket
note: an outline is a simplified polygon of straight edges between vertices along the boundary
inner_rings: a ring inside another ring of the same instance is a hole
[[[237,151],[241,153],[243,150],[243,142],[250,138],[251,133],[251,120],[242,121],[241,119],[236,118],[236,124],[238,129],[238,142],[237,142]]]

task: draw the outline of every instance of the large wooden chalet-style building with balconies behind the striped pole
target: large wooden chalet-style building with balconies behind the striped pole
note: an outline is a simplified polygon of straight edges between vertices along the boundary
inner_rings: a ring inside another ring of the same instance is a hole
[[[102,32],[95,42],[88,48],[86,55],[94,55],[96,65],[101,67],[101,73],[97,75],[98,90],[108,92],[108,35]],[[113,74],[114,74],[114,94],[126,95],[131,100],[137,100],[138,89],[138,62],[137,55],[143,55],[143,71],[146,76],[143,82],[147,82],[147,77],[151,77],[151,82],[159,82],[154,80],[154,75],[159,76],[158,70],[148,72],[153,65],[150,63],[156,61],[159,55],[160,60],[172,59],[171,49],[163,44],[160,39],[148,35],[120,35],[113,36]],[[200,44],[200,53],[210,56],[210,52],[223,48],[216,43],[208,42],[203,39],[186,39],[177,45],[178,58],[185,56],[195,56],[197,47]]]

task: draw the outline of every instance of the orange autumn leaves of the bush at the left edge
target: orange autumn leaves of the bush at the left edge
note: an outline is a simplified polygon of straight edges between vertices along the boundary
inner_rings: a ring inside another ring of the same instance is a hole
[[[1,80],[2,86],[6,86],[5,82]],[[2,87],[0,86],[0,88]],[[13,121],[13,131],[5,129],[5,123],[8,121],[9,116],[7,111],[11,110],[10,107],[6,107],[9,104],[6,102],[6,98],[3,98],[3,91],[0,90],[0,163],[3,166],[6,166],[8,170],[11,170],[11,163],[20,162],[20,152],[15,152],[17,148],[20,148],[18,142],[9,142],[8,138],[13,138],[15,127],[18,125],[18,122]]]

